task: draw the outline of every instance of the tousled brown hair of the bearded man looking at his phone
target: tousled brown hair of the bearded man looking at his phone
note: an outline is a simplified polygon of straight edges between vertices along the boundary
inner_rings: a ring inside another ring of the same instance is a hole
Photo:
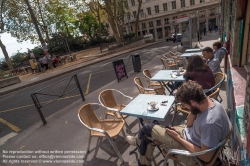
[[[197,103],[202,103],[206,98],[205,93],[203,92],[202,86],[196,81],[187,81],[182,84],[178,91],[175,94],[175,99],[178,102],[191,105],[190,100],[193,100]]]

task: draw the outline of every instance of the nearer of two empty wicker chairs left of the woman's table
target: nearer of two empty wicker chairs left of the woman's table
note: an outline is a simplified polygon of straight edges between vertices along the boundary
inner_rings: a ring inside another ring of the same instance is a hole
[[[139,77],[135,77],[134,82],[135,82],[135,85],[137,86],[140,94],[165,95],[165,89],[162,86],[160,88],[154,88],[154,89],[144,88],[144,86],[141,82],[141,79]]]

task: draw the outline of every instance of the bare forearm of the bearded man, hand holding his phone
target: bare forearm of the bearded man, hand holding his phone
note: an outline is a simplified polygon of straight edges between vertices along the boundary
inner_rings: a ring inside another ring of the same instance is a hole
[[[201,144],[201,148],[188,142],[187,140],[183,139],[180,137],[180,135],[178,133],[176,133],[176,131],[174,130],[169,130],[166,129],[166,132],[168,133],[168,135],[170,135],[173,139],[175,139],[176,141],[178,141],[180,144],[182,144],[183,147],[185,147],[188,151],[190,151],[191,153],[195,153],[195,152],[200,152],[203,150],[207,150],[209,149],[208,147],[206,147],[205,145]],[[215,151],[209,152],[209,153],[205,153],[203,155],[197,156],[199,159],[201,159],[202,161],[205,162],[209,162],[213,155],[214,155]]]

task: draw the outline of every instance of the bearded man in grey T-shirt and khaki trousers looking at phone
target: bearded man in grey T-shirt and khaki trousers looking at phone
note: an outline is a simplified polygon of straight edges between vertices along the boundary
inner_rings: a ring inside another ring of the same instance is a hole
[[[207,97],[201,85],[188,81],[178,89],[176,100],[181,102],[191,113],[184,125],[165,128],[153,123],[145,124],[139,131],[138,138],[127,136],[128,143],[139,147],[138,163],[130,165],[149,166],[156,145],[162,145],[166,152],[169,149],[200,152],[217,146],[230,132],[230,121],[223,106],[214,99]],[[145,138],[146,137],[146,138]],[[142,150],[141,150],[142,149]],[[143,153],[144,152],[144,153]],[[215,151],[198,156],[202,161],[209,162]],[[192,157],[176,155],[187,166],[196,164]]]

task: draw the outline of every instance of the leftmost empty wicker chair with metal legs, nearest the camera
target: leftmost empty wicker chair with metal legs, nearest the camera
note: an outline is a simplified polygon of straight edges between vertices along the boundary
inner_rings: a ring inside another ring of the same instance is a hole
[[[113,147],[114,151],[116,152],[117,156],[124,163],[121,153],[119,152],[115,142],[113,141],[116,136],[122,131],[123,126],[125,124],[124,120],[122,119],[104,119],[100,120],[91,105],[99,105],[97,103],[93,104],[85,104],[78,110],[78,118],[80,122],[89,130],[89,141],[88,141],[88,148],[87,153],[89,153],[90,143],[92,137],[98,137],[98,139],[102,139],[106,137],[111,146]],[[124,134],[125,137],[125,134]],[[99,140],[97,141],[99,142]],[[100,141],[101,142],[101,141]]]

